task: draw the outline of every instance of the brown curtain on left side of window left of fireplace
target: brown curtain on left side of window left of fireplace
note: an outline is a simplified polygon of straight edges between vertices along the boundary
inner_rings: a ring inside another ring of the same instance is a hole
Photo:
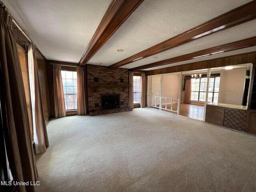
[[[58,65],[53,66],[53,85],[55,118],[65,117],[66,108],[61,78],[61,67]]]

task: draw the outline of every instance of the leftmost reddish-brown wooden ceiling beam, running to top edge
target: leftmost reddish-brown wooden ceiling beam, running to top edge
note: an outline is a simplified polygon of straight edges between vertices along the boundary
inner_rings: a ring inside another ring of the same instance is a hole
[[[85,65],[144,0],[112,0],[79,61]]]

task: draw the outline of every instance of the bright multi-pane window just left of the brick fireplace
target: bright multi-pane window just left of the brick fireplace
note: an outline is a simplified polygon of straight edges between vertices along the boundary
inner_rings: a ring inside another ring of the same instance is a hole
[[[66,110],[77,109],[77,72],[61,71]]]

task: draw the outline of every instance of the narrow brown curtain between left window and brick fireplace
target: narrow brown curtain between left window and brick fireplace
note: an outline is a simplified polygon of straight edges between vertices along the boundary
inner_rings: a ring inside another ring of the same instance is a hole
[[[77,68],[77,114],[86,115],[84,68]]]

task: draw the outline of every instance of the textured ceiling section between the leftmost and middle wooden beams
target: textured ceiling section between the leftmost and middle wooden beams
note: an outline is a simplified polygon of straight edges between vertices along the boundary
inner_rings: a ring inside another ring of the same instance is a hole
[[[247,2],[144,0],[88,63],[109,66]]]

